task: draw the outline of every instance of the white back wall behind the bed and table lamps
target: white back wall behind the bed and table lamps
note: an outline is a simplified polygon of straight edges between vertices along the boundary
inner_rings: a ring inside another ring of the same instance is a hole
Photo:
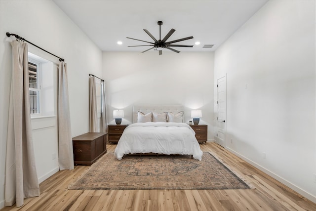
[[[191,110],[202,110],[200,123],[213,138],[213,52],[103,52],[103,77],[109,123],[116,109],[124,110],[122,124],[130,124],[133,105],[183,105],[187,123]]]

